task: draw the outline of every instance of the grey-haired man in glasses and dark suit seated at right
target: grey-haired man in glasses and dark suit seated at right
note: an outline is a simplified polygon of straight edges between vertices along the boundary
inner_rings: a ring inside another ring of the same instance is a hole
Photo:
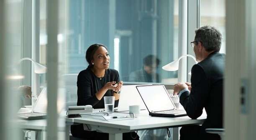
[[[221,34],[211,26],[195,30],[191,42],[198,64],[192,67],[191,84],[174,85],[174,94],[192,119],[202,115],[207,119],[200,125],[182,127],[180,140],[220,140],[217,134],[205,132],[205,128],[223,128],[223,72],[225,55],[220,54]]]

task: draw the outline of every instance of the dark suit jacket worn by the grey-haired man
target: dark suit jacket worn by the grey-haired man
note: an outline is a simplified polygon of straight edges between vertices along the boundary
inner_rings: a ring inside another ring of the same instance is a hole
[[[205,128],[223,128],[223,72],[225,55],[212,52],[205,60],[192,67],[191,92],[183,92],[179,102],[187,115],[197,119],[205,107]]]

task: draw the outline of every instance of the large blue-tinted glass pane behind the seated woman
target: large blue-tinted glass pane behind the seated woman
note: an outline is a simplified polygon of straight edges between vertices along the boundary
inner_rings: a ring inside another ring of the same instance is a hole
[[[121,80],[176,82],[177,72],[161,67],[178,57],[178,5],[178,0],[69,1],[68,73],[86,69],[85,51],[102,43]],[[133,78],[139,72],[146,76]]]

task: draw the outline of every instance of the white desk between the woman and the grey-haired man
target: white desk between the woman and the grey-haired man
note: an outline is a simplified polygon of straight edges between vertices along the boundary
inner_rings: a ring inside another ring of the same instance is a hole
[[[192,120],[188,116],[183,117],[151,117],[147,110],[142,110],[139,117],[132,120],[105,121],[94,118],[67,118],[67,122],[77,122],[86,124],[90,130],[109,133],[109,140],[122,140],[122,133],[136,130],[151,130],[160,128],[173,128],[173,140],[179,139],[179,129],[183,125],[202,124],[206,119],[203,113],[197,120]]]

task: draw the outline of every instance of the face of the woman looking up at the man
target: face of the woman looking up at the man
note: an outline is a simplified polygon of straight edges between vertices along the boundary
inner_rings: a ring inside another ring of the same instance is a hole
[[[97,69],[108,69],[110,63],[108,50],[105,47],[99,47],[93,55],[92,63]]]

